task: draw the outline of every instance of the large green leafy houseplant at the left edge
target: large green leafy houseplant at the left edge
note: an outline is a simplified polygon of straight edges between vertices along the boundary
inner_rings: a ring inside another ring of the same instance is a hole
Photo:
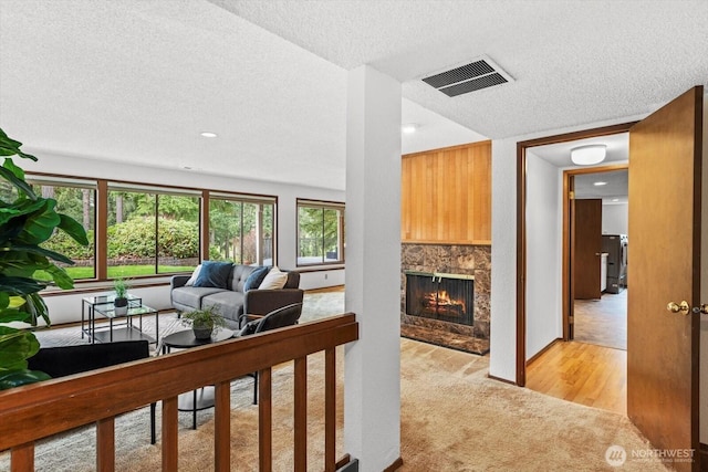
[[[0,179],[17,195],[12,201],[0,200],[0,390],[49,378],[27,368],[27,359],[40,348],[34,334],[8,326],[13,322],[37,326],[40,317],[50,325],[46,304],[40,295],[49,282],[34,279],[37,271],[49,273],[61,289],[74,286],[66,271],[54,263],[73,262],[41,244],[60,230],[80,244],[88,244],[83,227],[58,213],[56,200],[37,196],[25,181],[24,170],[11,156],[31,160],[37,157],[23,153],[21,146],[0,128],[0,156],[6,156]]]

